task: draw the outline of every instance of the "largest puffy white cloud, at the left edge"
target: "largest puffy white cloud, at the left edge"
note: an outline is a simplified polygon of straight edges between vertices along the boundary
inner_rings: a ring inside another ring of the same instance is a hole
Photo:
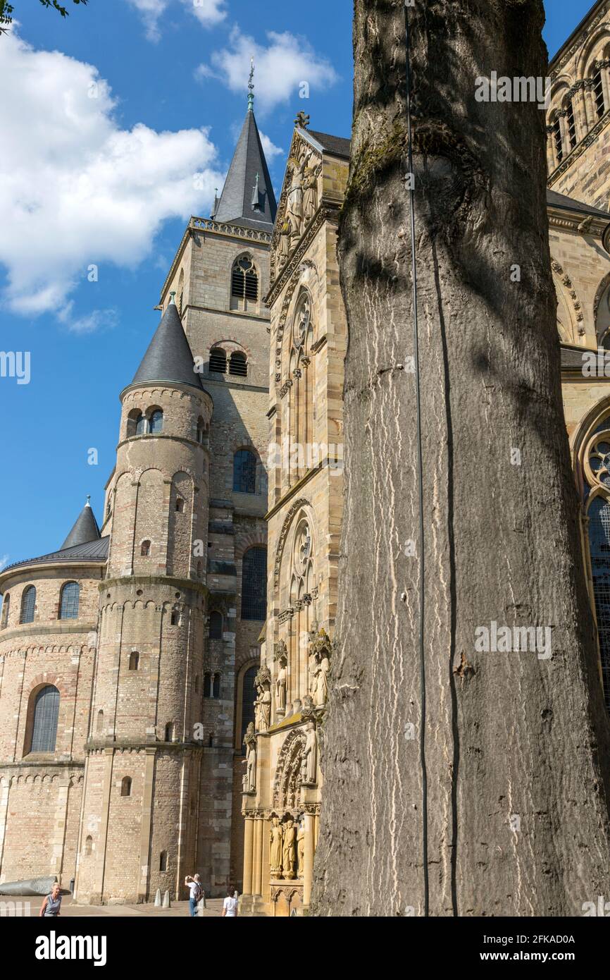
[[[118,127],[97,70],[2,38],[0,264],[12,310],[60,311],[95,264],[135,267],[170,218],[206,210],[216,149],[206,129]],[[91,286],[92,289],[95,286]],[[85,329],[86,326],[81,326]]]

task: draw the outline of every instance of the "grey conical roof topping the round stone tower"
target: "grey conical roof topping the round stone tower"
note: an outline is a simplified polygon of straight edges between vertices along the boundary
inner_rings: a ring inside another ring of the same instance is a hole
[[[171,292],[169,296],[164,316],[131,383],[177,381],[201,388],[201,377],[195,370],[193,352],[175,304],[175,293]]]

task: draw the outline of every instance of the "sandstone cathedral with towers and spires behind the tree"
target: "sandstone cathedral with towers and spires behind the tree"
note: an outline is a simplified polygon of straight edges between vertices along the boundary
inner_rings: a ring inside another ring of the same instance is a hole
[[[549,66],[557,370],[610,710],[610,0]],[[473,90],[474,94],[474,90]],[[276,203],[254,96],[120,392],[101,526],[0,572],[0,880],[306,914],[332,676],[350,141],[300,113]],[[144,345],[143,345],[144,346]],[[608,352],[607,359],[605,352]]]

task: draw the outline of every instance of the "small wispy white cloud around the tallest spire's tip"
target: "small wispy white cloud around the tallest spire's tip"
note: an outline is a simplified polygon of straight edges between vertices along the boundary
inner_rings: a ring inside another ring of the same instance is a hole
[[[268,31],[268,45],[257,44],[253,37],[233,27],[229,47],[214,51],[211,65],[200,65],[197,77],[220,78],[232,92],[247,94],[250,58],[256,64],[255,95],[262,113],[278,103],[288,102],[291,95],[306,82],[310,89],[333,85],[339,78],[330,62],[317,55],[307,39],[285,30]],[[306,109],[306,102],[304,101]]]

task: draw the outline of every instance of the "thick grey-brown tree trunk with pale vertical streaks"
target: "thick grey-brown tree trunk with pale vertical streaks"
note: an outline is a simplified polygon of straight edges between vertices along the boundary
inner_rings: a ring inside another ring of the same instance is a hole
[[[311,913],[422,915],[404,16],[402,0],[354,7],[346,508]],[[610,733],[561,403],[545,119],[537,102],[475,100],[477,75],[546,74],[542,3],[428,0],[409,23],[430,914],[582,915],[610,900]],[[478,652],[493,623],[548,627],[551,656],[544,632],[538,652]]]

